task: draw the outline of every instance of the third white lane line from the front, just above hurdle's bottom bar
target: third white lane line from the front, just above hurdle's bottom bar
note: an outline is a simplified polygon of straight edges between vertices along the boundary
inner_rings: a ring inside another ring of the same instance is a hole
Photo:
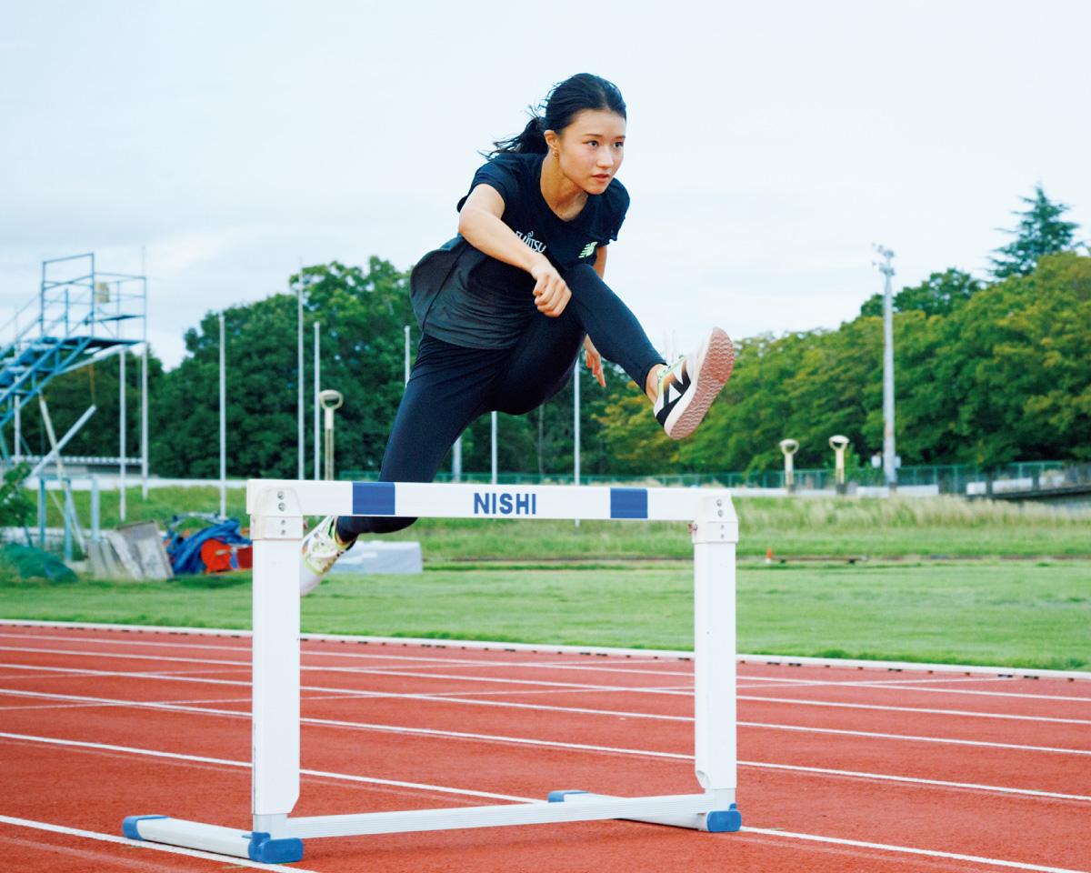
[[[314,691],[323,691],[323,689],[313,689]],[[80,701],[80,702],[100,702],[107,706],[131,706],[134,708],[143,709],[167,709],[172,711],[182,713],[199,713],[216,716],[229,716],[236,718],[250,718],[250,714],[245,711],[232,710],[232,709],[213,709],[209,707],[190,707],[181,706],[177,704],[166,704],[166,703],[145,703],[141,701],[125,701],[108,697],[85,697],[75,694],[47,694],[45,692],[32,692],[32,691],[12,691],[0,689],[0,694],[10,694],[15,696],[27,696],[27,697],[41,697],[46,699],[68,699],[68,701]],[[405,734],[422,734],[429,737],[452,737],[455,739],[476,739],[489,742],[507,742],[516,744],[539,744],[550,748],[567,748],[567,749],[594,749],[603,752],[618,752],[621,754],[647,754],[655,757],[682,757],[692,758],[693,755],[681,755],[673,752],[651,752],[642,750],[624,750],[615,749],[613,746],[596,746],[587,745],[582,743],[564,743],[554,740],[536,740],[527,739],[520,737],[503,737],[489,733],[470,733],[464,731],[448,731],[432,728],[416,728],[407,726],[397,725],[376,725],[365,721],[346,721],[343,719],[331,719],[331,718],[301,718],[300,723],[302,725],[321,725],[327,727],[338,727],[338,728],[356,728],[360,730],[375,730],[383,731],[387,733],[405,733]],[[942,745],[967,745],[979,749],[1009,749],[1019,752],[1047,752],[1052,754],[1062,755],[1091,755],[1091,751],[1082,749],[1060,749],[1056,746],[1042,746],[1042,745],[1022,745],[1017,743],[997,743],[987,742],[984,740],[959,740],[950,739],[944,737],[920,737],[915,734],[906,733],[879,733],[874,731],[861,731],[861,730],[841,730],[837,728],[812,728],[802,725],[774,725],[768,722],[758,721],[739,721],[736,722],[740,728],[758,728],[762,730],[784,730],[784,731],[796,731],[803,733],[826,733],[832,736],[841,737],[863,737],[866,739],[875,740],[900,740],[903,742],[924,742],[924,743],[938,743]]]

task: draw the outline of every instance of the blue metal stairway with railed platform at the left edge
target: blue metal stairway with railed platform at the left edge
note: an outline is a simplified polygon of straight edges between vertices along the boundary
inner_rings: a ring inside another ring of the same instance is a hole
[[[96,271],[94,253],[43,261],[38,294],[0,328],[0,428],[58,375],[143,343],[146,320],[144,276]]]

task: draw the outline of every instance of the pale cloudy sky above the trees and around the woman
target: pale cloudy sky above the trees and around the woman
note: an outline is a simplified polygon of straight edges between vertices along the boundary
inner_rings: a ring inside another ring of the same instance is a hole
[[[1035,183],[1091,236],[1089,33],[1083,0],[5,2],[0,308],[44,258],[144,247],[172,367],[300,260],[411,266],[477,151],[588,71],[628,104],[607,278],[652,340],[834,327],[873,242],[896,287],[983,274]]]

